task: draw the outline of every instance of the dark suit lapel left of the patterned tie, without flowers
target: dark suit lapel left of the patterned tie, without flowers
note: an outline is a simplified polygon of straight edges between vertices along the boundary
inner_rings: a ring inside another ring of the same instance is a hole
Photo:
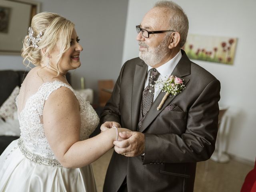
[[[132,117],[133,131],[136,131],[138,126],[142,91],[144,90],[147,69],[148,69],[148,66],[144,64],[144,62],[142,61],[141,63],[136,65],[135,72],[134,72],[133,85],[132,85],[132,104],[131,104],[132,105],[131,117]]]

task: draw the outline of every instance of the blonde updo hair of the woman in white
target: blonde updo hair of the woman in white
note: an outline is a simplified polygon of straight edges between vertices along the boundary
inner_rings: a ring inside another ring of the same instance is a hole
[[[24,58],[23,64],[29,66],[30,62],[35,66],[41,64],[42,60],[59,45],[60,54],[70,48],[70,39],[74,30],[74,23],[56,13],[42,12],[36,14],[31,21],[31,28],[34,31],[33,37],[36,38],[42,32],[42,39],[37,42],[38,47],[34,47],[32,43],[28,44],[29,36],[26,35],[23,41],[21,56]],[[44,49],[44,53],[41,51]],[[28,64],[25,61],[28,60]]]

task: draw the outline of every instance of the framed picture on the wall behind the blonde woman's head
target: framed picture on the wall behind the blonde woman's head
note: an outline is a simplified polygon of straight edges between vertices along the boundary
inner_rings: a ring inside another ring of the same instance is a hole
[[[0,0],[1,55],[20,55],[23,38],[40,8],[41,3],[34,0]]]

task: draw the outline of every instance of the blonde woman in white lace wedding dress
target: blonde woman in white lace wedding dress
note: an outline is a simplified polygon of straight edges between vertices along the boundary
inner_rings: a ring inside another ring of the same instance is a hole
[[[21,134],[0,156],[1,192],[96,191],[90,163],[129,130],[114,125],[89,138],[99,118],[65,77],[82,50],[72,22],[49,12],[33,17],[22,57],[36,67],[16,98]]]

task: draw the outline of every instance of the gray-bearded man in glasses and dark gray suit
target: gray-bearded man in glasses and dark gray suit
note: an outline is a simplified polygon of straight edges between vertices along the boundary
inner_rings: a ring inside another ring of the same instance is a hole
[[[132,130],[114,142],[104,192],[192,192],[196,162],[214,151],[220,82],[180,49],[188,18],[174,2],[156,3],[136,30],[140,57],[122,67],[100,118],[102,131]],[[186,88],[157,110],[165,93],[155,81],[171,74]]]

